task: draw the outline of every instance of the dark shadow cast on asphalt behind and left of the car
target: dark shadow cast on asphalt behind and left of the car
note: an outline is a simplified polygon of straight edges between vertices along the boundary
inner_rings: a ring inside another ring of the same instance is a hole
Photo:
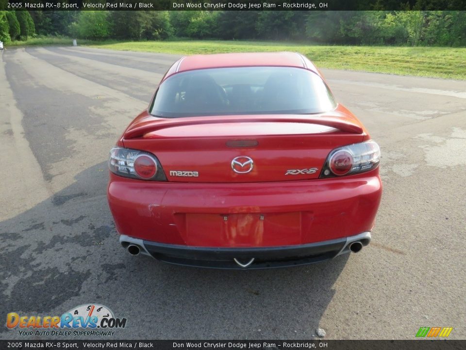
[[[347,255],[314,265],[244,271],[133,257],[118,243],[107,181],[102,162],[0,223],[3,317],[62,315],[99,303],[128,320],[115,339],[303,339],[322,327]],[[0,338],[24,337],[5,327]],[[42,338],[49,337],[33,336]]]

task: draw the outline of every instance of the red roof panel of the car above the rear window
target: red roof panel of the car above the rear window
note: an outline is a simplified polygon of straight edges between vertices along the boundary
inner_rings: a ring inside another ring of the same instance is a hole
[[[309,67],[308,63],[311,65]],[[314,65],[299,53],[217,53],[183,57],[175,72],[207,68],[279,66],[316,71]]]

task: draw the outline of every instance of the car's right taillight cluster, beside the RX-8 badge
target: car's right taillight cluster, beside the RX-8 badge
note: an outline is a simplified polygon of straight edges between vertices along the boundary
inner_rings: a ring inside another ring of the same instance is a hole
[[[380,148],[372,140],[338,147],[330,152],[320,178],[363,173],[377,168]]]

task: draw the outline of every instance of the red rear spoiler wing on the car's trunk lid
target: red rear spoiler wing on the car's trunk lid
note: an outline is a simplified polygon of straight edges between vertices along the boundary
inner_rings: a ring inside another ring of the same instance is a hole
[[[336,114],[336,113],[335,113]],[[336,114],[339,115],[339,114]],[[157,119],[142,123],[130,128],[124,134],[124,139],[135,139],[147,133],[161,129],[186,125],[208,125],[218,123],[306,123],[330,126],[343,132],[362,134],[363,128],[354,123],[350,118],[330,115],[305,115],[305,116],[216,116],[216,117],[185,117],[175,119]]]

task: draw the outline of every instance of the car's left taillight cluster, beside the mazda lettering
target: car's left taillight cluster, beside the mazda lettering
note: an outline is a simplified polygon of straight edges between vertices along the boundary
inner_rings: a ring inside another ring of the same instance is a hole
[[[144,151],[114,147],[110,150],[108,167],[112,173],[124,177],[166,181],[165,173],[157,157]]]

